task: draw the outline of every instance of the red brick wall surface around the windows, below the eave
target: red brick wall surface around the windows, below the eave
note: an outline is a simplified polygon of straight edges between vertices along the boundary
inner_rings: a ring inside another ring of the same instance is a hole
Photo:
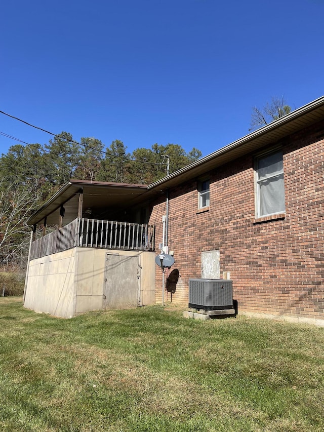
[[[180,273],[173,302],[188,303],[188,280],[201,277],[201,252],[219,250],[221,277],[230,272],[239,311],[324,319],[323,138],[324,122],[281,142],[282,218],[255,219],[254,154],[209,173],[209,211],[197,212],[197,181],[170,191],[168,243],[175,252],[172,269]],[[150,218],[157,253],[164,214],[165,197]],[[162,273],[156,267],[157,302],[161,295]]]

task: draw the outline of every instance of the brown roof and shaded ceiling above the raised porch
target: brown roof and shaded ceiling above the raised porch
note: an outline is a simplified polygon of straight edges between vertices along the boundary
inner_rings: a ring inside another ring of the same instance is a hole
[[[105,219],[113,218],[113,213],[136,206],[148,199],[151,193],[146,185],[90,182],[70,180],[27,221],[27,225],[42,224],[47,218],[48,225],[59,223],[61,206],[64,207],[63,224],[76,219],[79,192],[83,190],[83,217]],[[87,212],[88,210],[88,212]]]

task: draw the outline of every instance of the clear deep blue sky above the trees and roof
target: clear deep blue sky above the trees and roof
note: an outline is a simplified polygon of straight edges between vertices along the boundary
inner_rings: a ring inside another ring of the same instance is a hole
[[[324,94],[324,2],[2,2],[0,110],[128,151],[209,154],[247,135],[254,105]],[[0,132],[51,136],[0,114]],[[0,154],[17,141],[0,135]]]

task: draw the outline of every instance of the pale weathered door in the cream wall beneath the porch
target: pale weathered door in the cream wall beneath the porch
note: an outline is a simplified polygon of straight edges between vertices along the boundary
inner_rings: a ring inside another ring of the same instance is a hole
[[[138,256],[106,254],[104,309],[126,309],[139,304]]]

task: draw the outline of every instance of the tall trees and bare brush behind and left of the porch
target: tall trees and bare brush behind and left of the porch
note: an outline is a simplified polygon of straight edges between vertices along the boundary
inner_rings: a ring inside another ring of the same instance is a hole
[[[0,266],[23,266],[28,255],[24,221],[69,179],[151,184],[196,161],[201,151],[153,144],[128,152],[122,141],[96,138],[77,143],[62,132],[47,144],[16,144],[0,158]]]

